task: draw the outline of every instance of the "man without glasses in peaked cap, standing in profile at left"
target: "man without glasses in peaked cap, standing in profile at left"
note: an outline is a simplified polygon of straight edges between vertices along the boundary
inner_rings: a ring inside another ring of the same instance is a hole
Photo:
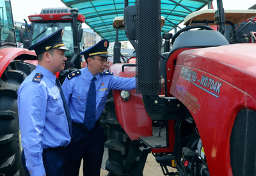
[[[68,48],[62,35],[61,28],[28,48],[35,50],[38,65],[18,91],[22,165],[27,176],[65,175],[67,155],[63,148],[70,143],[72,125],[67,101],[55,76],[67,61],[64,53]]]

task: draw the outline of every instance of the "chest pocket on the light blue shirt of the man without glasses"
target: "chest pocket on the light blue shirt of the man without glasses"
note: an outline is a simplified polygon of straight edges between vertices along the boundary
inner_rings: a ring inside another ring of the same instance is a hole
[[[52,114],[56,116],[56,115],[61,115],[65,113],[64,103],[61,98],[61,95],[58,93],[54,93],[54,94],[51,94],[50,96],[51,96],[50,97],[51,106],[49,108],[51,108]]]

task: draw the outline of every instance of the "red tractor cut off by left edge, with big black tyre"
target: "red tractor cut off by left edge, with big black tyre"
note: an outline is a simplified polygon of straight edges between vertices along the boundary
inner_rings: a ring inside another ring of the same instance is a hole
[[[17,91],[35,69],[24,60],[35,60],[36,55],[17,47],[10,0],[1,0],[0,6],[0,175],[24,175],[20,160]]]

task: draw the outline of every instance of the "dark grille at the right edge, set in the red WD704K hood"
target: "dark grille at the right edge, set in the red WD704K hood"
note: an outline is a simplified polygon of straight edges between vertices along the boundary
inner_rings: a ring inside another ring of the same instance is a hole
[[[234,176],[256,175],[256,112],[241,110],[230,136],[230,164]]]

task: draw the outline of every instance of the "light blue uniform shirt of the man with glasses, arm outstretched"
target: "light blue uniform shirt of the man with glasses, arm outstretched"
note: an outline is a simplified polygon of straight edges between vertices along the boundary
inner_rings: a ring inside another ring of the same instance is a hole
[[[86,111],[87,96],[90,84],[92,82],[93,75],[88,68],[80,70],[81,75],[73,77],[70,80],[68,78],[63,82],[62,90],[65,98],[67,99],[68,107],[71,114],[72,122],[83,124],[84,114]],[[95,75],[95,87],[96,87],[96,114],[95,121],[100,118],[108,92],[111,89],[117,90],[132,90],[135,89],[135,78],[122,78],[115,75]],[[107,89],[106,89],[107,88]],[[90,103],[90,102],[89,102]]]

